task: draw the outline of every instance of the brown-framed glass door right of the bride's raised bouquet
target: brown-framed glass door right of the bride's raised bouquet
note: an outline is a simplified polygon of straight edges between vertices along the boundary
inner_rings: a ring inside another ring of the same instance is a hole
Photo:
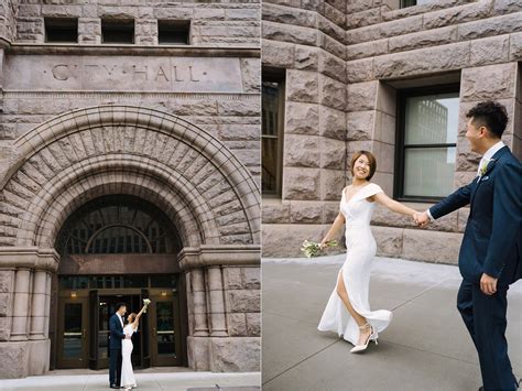
[[[165,292],[166,293],[166,292]],[[180,306],[177,294],[151,297],[151,360],[152,366],[181,365]]]

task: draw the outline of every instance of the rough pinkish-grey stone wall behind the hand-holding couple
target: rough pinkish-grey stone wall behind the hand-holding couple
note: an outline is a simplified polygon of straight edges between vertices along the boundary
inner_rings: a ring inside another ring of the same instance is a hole
[[[424,210],[444,196],[401,196],[404,96],[445,94],[449,86],[455,116],[442,115],[455,123],[446,145],[453,154],[449,187],[476,175],[479,156],[465,138],[465,112],[481,100],[507,107],[510,122],[502,139],[522,158],[522,2],[417,3],[263,2],[263,73],[279,72],[285,94],[282,189],[263,195],[264,256],[296,257],[303,239],[323,238],[350,182],[347,162],[357,150],[376,155],[373,181],[395,199]],[[455,263],[468,213],[463,208],[418,229],[379,206],[372,220],[378,254]]]

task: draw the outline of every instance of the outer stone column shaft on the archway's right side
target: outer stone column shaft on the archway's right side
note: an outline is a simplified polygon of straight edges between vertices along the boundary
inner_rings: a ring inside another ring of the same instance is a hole
[[[210,304],[210,336],[226,337],[227,323],[225,321],[225,300],[222,291],[222,274],[220,267],[207,269],[208,296]]]

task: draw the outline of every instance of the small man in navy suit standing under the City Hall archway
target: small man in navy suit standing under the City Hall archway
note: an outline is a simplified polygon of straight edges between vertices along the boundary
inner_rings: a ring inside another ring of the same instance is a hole
[[[118,303],[116,308],[116,313],[109,319],[109,383],[111,389],[120,388],[121,340],[126,337],[123,334],[123,316],[127,312],[126,303]]]

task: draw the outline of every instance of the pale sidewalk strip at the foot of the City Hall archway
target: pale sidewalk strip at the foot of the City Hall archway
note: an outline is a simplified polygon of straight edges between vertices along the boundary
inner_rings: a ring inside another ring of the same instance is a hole
[[[137,391],[186,391],[191,388],[260,387],[261,373],[194,372],[188,368],[149,368],[135,371]],[[1,391],[11,390],[89,390],[110,391],[109,372],[91,370],[58,370],[46,376],[0,380]]]

